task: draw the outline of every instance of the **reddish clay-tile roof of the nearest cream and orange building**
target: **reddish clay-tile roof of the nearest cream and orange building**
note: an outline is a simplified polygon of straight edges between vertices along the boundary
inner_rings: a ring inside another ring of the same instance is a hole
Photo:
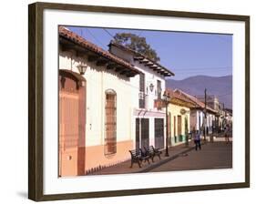
[[[87,41],[83,37],[78,36],[77,34],[68,30],[64,26],[59,26],[58,33],[59,33],[59,36],[62,36],[62,37],[66,38],[69,41],[72,41],[73,43],[77,44],[78,46],[82,46],[82,47],[86,48],[87,50],[90,50],[90,51],[92,51],[93,53],[95,53],[99,56],[106,57],[108,60],[113,61],[113,62],[117,63],[120,66],[125,66],[128,69],[132,70],[136,74],[140,73],[140,71],[138,71],[138,69],[136,69],[134,66],[130,65],[128,62],[122,60],[118,56],[112,55],[108,51],[106,51],[106,50],[102,49],[101,47]]]

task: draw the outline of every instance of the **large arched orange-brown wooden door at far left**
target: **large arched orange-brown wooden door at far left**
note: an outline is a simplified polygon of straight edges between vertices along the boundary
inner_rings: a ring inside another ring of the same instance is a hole
[[[85,87],[70,73],[59,75],[59,176],[85,174]]]

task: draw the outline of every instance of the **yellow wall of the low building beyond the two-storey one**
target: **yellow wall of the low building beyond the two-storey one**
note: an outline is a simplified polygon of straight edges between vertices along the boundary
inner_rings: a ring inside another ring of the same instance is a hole
[[[180,110],[181,109],[185,109],[186,113],[185,114],[181,114]],[[188,132],[190,131],[190,111],[189,111],[189,107],[184,107],[184,106],[179,106],[176,104],[169,104],[168,107],[168,112],[171,116],[170,121],[169,121],[169,140],[171,139],[171,143],[169,141],[169,145],[171,144],[171,146],[176,146],[179,145],[180,143],[184,143],[186,141],[185,138],[185,118],[188,118]],[[181,117],[181,135],[178,135],[178,117]],[[174,117],[176,117],[175,120],[175,124],[174,124]],[[176,127],[176,128],[175,128]],[[174,132],[174,130],[176,130]]]

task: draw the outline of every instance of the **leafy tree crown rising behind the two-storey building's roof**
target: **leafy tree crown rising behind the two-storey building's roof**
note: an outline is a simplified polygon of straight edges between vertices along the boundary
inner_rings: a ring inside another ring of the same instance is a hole
[[[147,56],[149,59],[158,62],[160,60],[157,52],[148,45],[146,38],[130,33],[118,33],[114,36],[115,42],[136,52]]]

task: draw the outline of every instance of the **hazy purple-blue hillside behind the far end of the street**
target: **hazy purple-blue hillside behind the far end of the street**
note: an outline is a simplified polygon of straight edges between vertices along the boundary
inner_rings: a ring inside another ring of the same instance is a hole
[[[183,80],[168,79],[166,86],[179,88],[191,96],[216,95],[225,107],[232,108],[232,76],[191,76]]]

